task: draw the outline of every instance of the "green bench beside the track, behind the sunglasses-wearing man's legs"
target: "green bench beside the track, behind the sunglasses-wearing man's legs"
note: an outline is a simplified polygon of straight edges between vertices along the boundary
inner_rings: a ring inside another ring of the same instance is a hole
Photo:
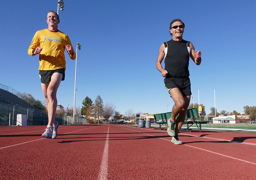
[[[155,129],[164,129],[166,130],[166,128],[161,128],[161,126],[164,124],[165,127],[167,127],[167,120],[171,118],[172,112],[166,112],[166,113],[161,113],[161,114],[154,114],[154,119],[155,119],[155,123],[159,124],[159,128],[155,128]],[[210,121],[199,121],[196,120],[195,118],[199,117],[198,115],[198,111],[197,108],[191,108],[187,110],[186,113],[186,119],[191,118],[192,121],[186,121],[184,122],[184,124],[187,124],[187,128],[186,131],[189,130],[189,128],[193,125],[196,124],[197,128],[200,130],[200,132],[202,131],[201,129],[201,124],[207,124]],[[198,125],[199,124],[199,127]]]

